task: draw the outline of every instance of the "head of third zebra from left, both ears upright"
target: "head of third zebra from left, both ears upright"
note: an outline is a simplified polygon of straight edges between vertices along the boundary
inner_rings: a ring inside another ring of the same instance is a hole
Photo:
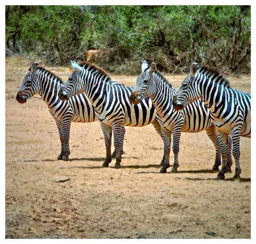
[[[148,63],[144,60],[141,69],[142,73],[137,78],[136,86],[130,95],[130,101],[133,104],[139,104],[141,100],[149,97],[155,89],[153,73],[157,69],[156,64],[152,63],[148,69]]]

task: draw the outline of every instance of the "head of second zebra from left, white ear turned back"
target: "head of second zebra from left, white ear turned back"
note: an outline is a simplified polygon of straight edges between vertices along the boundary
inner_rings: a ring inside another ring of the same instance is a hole
[[[71,64],[74,71],[58,92],[58,97],[63,101],[68,100],[70,97],[78,95],[84,91],[82,82],[84,69],[72,60]]]

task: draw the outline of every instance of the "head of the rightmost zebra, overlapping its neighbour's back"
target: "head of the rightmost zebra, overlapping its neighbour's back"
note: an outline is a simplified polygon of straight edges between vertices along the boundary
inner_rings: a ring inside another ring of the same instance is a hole
[[[189,75],[183,80],[180,88],[177,90],[172,100],[172,105],[176,111],[183,110],[189,103],[200,98],[198,86],[196,85],[198,68],[198,63],[192,63]]]

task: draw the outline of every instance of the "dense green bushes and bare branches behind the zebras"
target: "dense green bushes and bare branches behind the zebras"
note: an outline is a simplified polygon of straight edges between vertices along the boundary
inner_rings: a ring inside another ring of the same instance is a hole
[[[186,72],[192,61],[250,70],[250,6],[6,6],[6,55],[52,65],[86,60],[111,73],[140,63]]]

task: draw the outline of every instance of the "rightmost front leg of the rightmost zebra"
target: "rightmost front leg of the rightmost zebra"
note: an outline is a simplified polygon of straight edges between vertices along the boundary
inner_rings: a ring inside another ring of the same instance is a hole
[[[235,158],[236,162],[236,170],[235,170],[235,175],[234,178],[240,178],[240,173],[241,173],[241,168],[239,164],[239,158],[240,158],[240,129],[241,128],[236,128],[232,132],[232,141],[233,141],[233,157]]]

